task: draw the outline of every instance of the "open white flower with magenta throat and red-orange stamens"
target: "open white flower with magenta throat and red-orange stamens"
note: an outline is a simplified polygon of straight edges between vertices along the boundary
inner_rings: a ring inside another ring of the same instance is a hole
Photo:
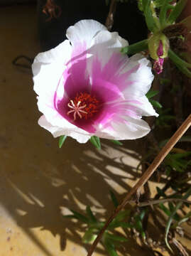
[[[67,29],[68,40],[39,53],[32,65],[41,127],[53,137],[85,143],[90,137],[137,139],[150,131],[143,115],[156,114],[146,97],[150,62],[120,50],[128,42],[101,23],[82,20]]]

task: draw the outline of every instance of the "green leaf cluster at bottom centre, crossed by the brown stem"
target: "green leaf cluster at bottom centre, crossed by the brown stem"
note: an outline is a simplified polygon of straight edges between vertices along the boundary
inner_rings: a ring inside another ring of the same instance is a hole
[[[113,192],[110,192],[111,200],[114,203],[114,207],[119,205],[119,202],[116,199],[116,196]],[[105,222],[99,221],[92,213],[92,210],[89,206],[86,208],[86,215],[82,215],[81,213],[76,212],[75,210],[70,210],[72,215],[64,215],[64,218],[75,218],[82,223],[87,225],[86,231],[82,237],[82,242],[84,243],[92,243],[97,238],[99,231],[103,228]],[[116,228],[123,229],[135,229],[139,233],[143,239],[146,238],[146,233],[143,230],[143,218],[146,213],[146,210],[141,210],[140,213],[136,213],[133,216],[133,220],[129,223],[129,216],[131,214],[131,210],[121,210],[121,212],[114,218],[114,220],[109,224],[109,227],[104,232],[102,236],[102,245],[104,245],[105,249],[109,253],[110,256],[117,256],[116,247],[121,245],[121,242],[127,242],[127,238],[123,235],[119,235],[116,232]]]

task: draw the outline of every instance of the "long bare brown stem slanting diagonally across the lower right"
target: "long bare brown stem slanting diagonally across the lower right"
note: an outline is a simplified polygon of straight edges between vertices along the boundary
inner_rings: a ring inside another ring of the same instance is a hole
[[[191,125],[191,114],[187,117],[185,122],[183,122],[183,124],[180,126],[177,132],[175,132],[173,137],[170,138],[167,144],[165,144],[163,149],[161,149],[159,154],[153,160],[153,163],[151,164],[151,166],[148,167],[146,172],[143,174],[143,176],[141,176],[141,178],[135,184],[135,186],[133,186],[133,188],[131,188],[129,193],[127,193],[126,197],[124,198],[124,201],[122,201],[122,203],[111,214],[110,218],[107,220],[107,223],[104,225],[104,228],[102,228],[102,230],[99,232],[99,235],[97,235],[96,240],[94,240],[94,243],[90,247],[87,256],[92,255],[92,253],[94,252],[94,249],[97,247],[99,240],[102,238],[104,231],[108,228],[111,221],[116,217],[116,215],[118,215],[120,210],[122,210],[124,206],[126,206],[126,204],[129,203],[129,199],[131,198],[131,196],[133,196],[134,193],[140,190],[140,188],[148,181],[148,179],[151,177],[153,172],[158,168],[161,162],[165,159],[165,156],[168,155],[170,150],[173,149],[173,146],[175,146],[175,144],[179,141],[182,135],[185,134],[187,129],[190,127],[190,125]]]

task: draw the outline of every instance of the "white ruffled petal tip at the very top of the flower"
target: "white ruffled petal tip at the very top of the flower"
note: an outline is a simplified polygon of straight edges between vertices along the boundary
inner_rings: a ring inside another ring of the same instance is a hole
[[[107,28],[98,21],[82,20],[75,23],[74,26],[67,28],[66,36],[72,43],[72,46],[82,42],[86,42],[86,45],[89,46],[92,38],[102,30],[107,30]]]

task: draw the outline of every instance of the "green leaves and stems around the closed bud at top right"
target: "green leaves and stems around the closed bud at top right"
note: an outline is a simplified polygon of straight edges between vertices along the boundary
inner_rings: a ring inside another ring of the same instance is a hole
[[[184,9],[187,0],[180,0],[174,6],[172,0],[138,0],[138,7],[143,11],[145,16],[146,25],[148,30],[151,31],[151,37],[127,46],[121,50],[122,53],[128,55],[138,53],[142,50],[149,50],[149,54],[152,58],[156,56],[156,50],[158,48],[159,41],[163,41],[163,55],[169,57],[170,60],[176,65],[176,67],[187,77],[191,78],[191,64],[180,58],[172,48],[169,46],[169,38],[165,36],[165,29],[173,29],[176,23],[175,21],[180,16],[182,9]],[[185,26],[182,23],[182,26]],[[188,28],[189,29],[189,28]],[[174,35],[170,33],[171,37],[182,38],[184,41],[184,35]]]

